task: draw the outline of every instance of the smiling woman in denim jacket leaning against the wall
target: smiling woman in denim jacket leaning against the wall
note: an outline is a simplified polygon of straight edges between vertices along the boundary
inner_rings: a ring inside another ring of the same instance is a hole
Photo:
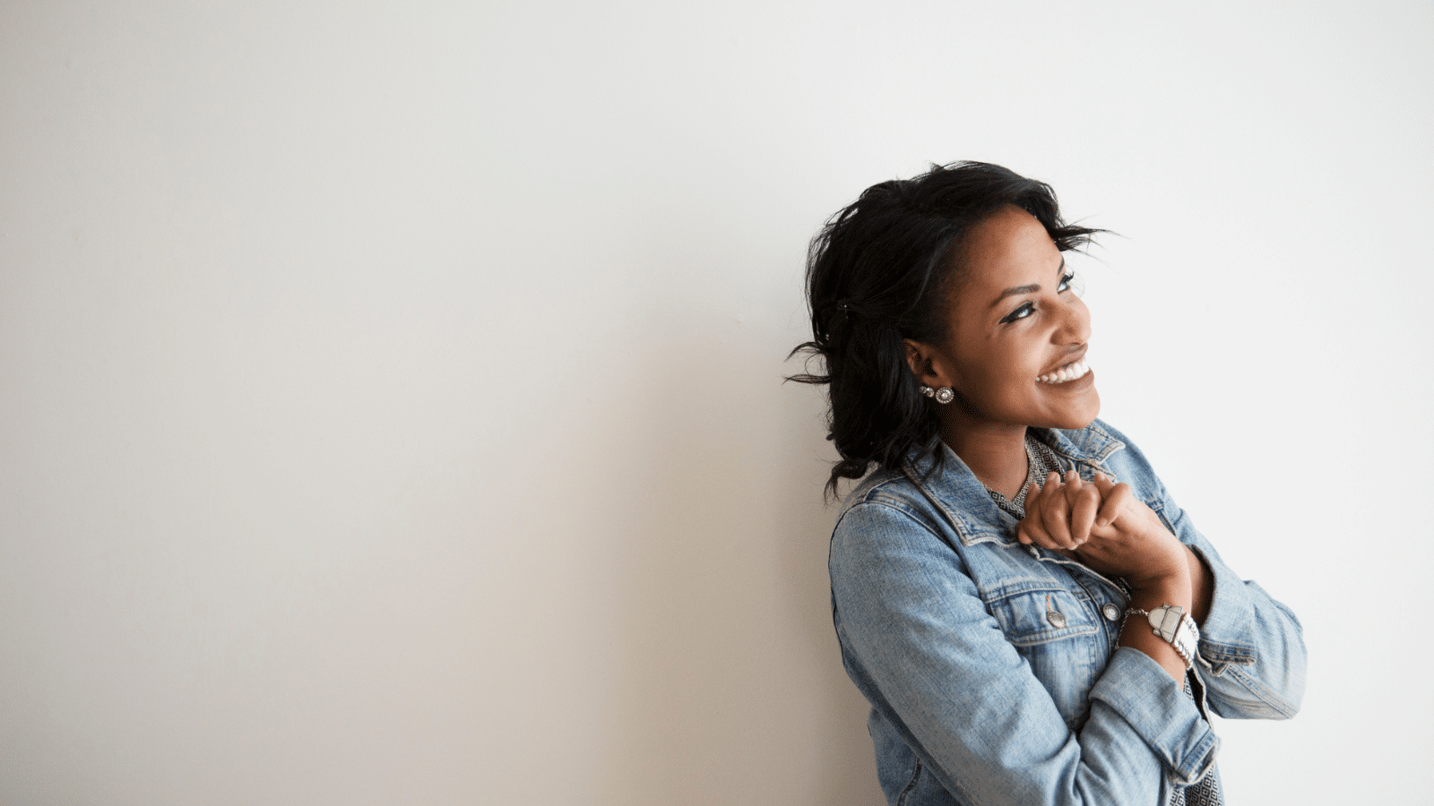
[[[1286,719],[1299,622],[1096,419],[1063,252],[1094,229],[978,162],[882,182],[812,244],[847,674],[893,805],[1220,803],[1206,717]]]

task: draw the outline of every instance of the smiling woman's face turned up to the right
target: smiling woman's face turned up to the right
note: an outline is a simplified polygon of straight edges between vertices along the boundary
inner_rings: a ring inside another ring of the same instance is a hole
[[[1008,207],[972,229],[964,258],[949,337],[925,346],[932,373],[968,403],[952,407],[995,426],[1088,426],[1100,413],[1083,361],[1090,311],[1045,228]]]

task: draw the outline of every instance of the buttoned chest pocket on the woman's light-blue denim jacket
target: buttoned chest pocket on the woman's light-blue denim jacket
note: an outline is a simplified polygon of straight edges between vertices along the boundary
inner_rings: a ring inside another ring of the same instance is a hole
[[[987,601],[1007,641],[1051,694],[1073,730],[1086,720],[1087,696],[1107,654],[1090,602],[1064,588],[1032,588]]]

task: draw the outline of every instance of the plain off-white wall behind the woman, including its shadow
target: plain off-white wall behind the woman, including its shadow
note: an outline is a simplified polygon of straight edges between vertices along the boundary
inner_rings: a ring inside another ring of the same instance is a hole
[[[803,255],[1051,182],[1103,417],[1430,803],[1434,4],[0,3],[0,802],[869,805]]]

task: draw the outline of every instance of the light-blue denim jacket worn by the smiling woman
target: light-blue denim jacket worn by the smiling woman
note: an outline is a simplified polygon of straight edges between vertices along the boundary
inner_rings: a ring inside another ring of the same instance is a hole
[[[1157,806],[1213,773],[1205,710],[1288,719],[1305,686],[1299,621],[1236,577],[1150,463],[1096,420],[1032,429],[1091,480],[1126,482],[1209,566],[1192,697],[1149,655],[1117,647],[1121,587],[1015,539],[961,459],[878,470],[832,535],[832,612],[892,805]]]

